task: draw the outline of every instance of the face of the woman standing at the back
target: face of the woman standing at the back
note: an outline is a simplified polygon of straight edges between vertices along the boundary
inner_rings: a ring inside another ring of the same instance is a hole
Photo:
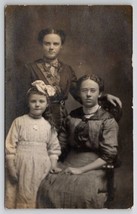
[[[61,38],[57,34],[47,34],[43,38],[43,53],[47,59],[54,60],[57,58],[61,48]]]

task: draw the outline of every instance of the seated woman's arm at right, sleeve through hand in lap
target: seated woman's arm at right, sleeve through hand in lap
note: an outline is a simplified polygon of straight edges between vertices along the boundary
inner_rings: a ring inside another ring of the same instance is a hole
[[[104,122],[104,127],[102,131],[102,140],[99,145],[100,157],[97,158],[94,162],[87,164],[83,167],[69,167],[65,170],[65,173],[81,174],[90,170],[102,168],[107,163],[113,163],[117,155],[118,146],[118,125],[116,121],[113,118],[107,119]]]

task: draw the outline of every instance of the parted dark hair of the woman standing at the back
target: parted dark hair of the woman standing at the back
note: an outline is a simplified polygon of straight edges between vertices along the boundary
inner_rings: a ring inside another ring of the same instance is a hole
[[[45,35],[48,35],[48,34],[57,34],[60,36],[61,38],[61,44],[63,45],[64,42],[65,42],[65,39],[66,39],[66,35],[64,33],[63,30],[57,30],[57,29],[53,29],[53,28],[46,28],[46,29],[43,29],[39,32],[38,34],[38,41],[40,44],[43,43],[43,38]]]

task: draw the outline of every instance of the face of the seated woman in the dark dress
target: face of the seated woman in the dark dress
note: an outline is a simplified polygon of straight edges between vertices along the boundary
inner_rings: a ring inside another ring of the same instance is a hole
[[[84,80],[80,87],[80,97],[85,107],[91,108],[98,104],[99,85],[94,80]]]

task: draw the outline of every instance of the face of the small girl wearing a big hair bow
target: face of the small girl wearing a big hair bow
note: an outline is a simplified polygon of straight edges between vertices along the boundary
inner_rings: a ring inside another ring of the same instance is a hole
[[[48,106],[47,98],[40,94],[31,94],[29,97],[30,114],[34,117],[42,116]]]

